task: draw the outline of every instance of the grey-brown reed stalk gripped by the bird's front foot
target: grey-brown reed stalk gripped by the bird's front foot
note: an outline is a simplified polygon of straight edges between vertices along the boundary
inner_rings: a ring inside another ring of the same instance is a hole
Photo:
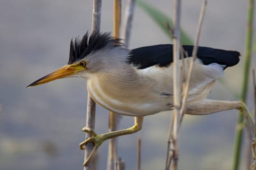
[[[91,32],[100,32],[101,27],[101,0],[93,0],[93,8],[92,8],[92,25],[91,25]],[[88,93],[87,99],[87,112],[86,112],[86,127],[91,129],[95,128],[95,110],[96,110],[96,103],[92,100],[90,94]],[[91,137],[91,134],[86,133],[85,139]],[[93,143],[90,142],[86,145],[84,151],[84,161],[87,160],[89,157],[92,149]],[[95,161],[92,161],[95,162]],[[84,166],[84,170],[91,170],[95,165],[92,165],[90,162]]]

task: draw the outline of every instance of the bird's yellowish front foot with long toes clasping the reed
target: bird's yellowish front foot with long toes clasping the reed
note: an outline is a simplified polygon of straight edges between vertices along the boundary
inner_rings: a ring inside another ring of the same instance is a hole
[[[108,138],[105,137],[104,135],[97,135],[91,128],[88,128],[88,127],[83,127],[82,131],[90,133],[91,137],[87,138],[85,141],[79,144],[80,149],[85,150],[85,145],[88,144],[89,142],[92,142],[94,145],[87,160],[83,163],[83,166],[85,166],[91,159],[91,156],[97,151],[98,147]]]

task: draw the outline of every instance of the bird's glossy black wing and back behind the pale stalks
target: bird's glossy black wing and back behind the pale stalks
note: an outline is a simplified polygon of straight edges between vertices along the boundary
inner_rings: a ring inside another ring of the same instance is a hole
[[[188,53],[189,57],[192,56],[192,45],[183,45],[183,49]],[[239,56],[240,53],[238,51],[227,51],[210,47],[198,47],[197,51],[197,57],[201,59],[204,65],[218,63],[226,65],[225,68],[236,65],[239,62]],[[161,44],[133,49],[130,51],[128,62],[137,66],[138,69],[154,65],[167,67],[173,62],[173,45]]]

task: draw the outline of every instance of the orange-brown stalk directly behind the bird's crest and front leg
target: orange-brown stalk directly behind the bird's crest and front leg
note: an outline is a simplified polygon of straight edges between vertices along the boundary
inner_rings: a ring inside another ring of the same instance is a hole
[[[114,0],[114,22],[113,22],[113,36],[119,38],[121,24],[121,0]],[[109,132],[117,130],[117,115],[116,113],[109,112]],[[114,170],[117,162],[117,143],[116,138],[110,138],[107,170]]]

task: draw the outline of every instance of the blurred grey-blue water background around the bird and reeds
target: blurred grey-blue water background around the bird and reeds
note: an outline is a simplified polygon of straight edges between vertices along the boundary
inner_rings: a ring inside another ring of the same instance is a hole
[[[171,0],[147,0],[171,16]],[[123,9],[126,4],[122,2]],[[182,27],[194,38],[201,0],[183,0]],[[72,37],[91,31],[92,0],[0,0],[0,169],[74,170],[82,169],[84,152],[79,143],[85,125],[86,81],[60,79],[27,89],[32,81],[62,67],[68,61]],[[112,31],[113,2],[103,0],[101,31]],[[123,16],[122,16],[123,17]],[[237,50],[243,54],[247,1],[209,0],[201,31],[200,45]],[[130,48],[171,43],[155,23],[138,7]],[[255,67],[256,60],[252,60]],[[243,56],[240,63],[225,71],[229,88],[219,82],[210,99],[238,100]],[[250,84],[248,107],[253,109]],[[171,112],[144,119],[142,170],[164,169],[166,141]],[[181,170],[229,170],[237,111],[209,116],[185,116],[180,138]],[[119,128],[133,124],[122,117]],[[97,107],[96,132],[108,130],[108,111]],[[127,170],[136,169],[137,135],[118,139],[119,156]],[[107,162],[108,142],[99,149],[99,170]],[[160,168],[159,168],[160,167]],[[243,169],[243,168],[241,168]]]

